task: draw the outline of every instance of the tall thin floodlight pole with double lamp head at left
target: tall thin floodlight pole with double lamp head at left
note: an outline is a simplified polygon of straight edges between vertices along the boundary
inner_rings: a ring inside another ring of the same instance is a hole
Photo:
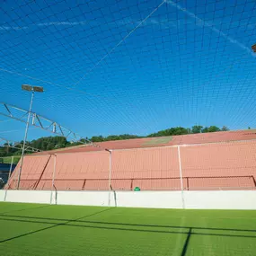
[[[28,135],[28,129],[30,126],[30,119],[31,119],[31,109],[32,109],[32,103],[33,103],[33,98],[34,98],[34,93],[43,93],[43,87],[40,86],[31,86],[29,84],[22,84],[22,90],[23,91],[28,91],[32,92],[31,93],[31,104],[30,104],[30,110],[28,113],[28,119],[26,123],[26,129],[25,129],[25,136],[23,140],[23,146],[22,146],[22,158],[21,158],[21,165],[18,173],[18,185],[17,185],[17,190],[20,189],[20,182],[21,182],[21,175],[22,175],[22,165],[23,165],[23,160],[24,160],[24,151],[25,151],[25,144],[27,140],[27,135]]]

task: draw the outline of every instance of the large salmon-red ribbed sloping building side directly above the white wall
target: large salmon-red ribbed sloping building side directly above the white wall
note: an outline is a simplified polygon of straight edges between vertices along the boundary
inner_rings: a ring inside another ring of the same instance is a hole
[[[17,170],[5,189],[17,189]],[[255,190],[256,143],[162,146],[24,158],[21,190]]]

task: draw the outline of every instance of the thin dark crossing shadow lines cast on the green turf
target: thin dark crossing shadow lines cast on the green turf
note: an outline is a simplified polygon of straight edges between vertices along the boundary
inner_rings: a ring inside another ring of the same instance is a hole
[[[41,207],[50,207],[50,206],[41,206]],[[26,209],[34,209],[40,207],[31,207]],[[116,222],[102,222],[102,221],[91,221],[91,220],[82,220],[90,216],[97,216],[103,212],[110,211],[115,207],[109,207],[101,211],[94,212],[93,214],[81,216],[76,219],[59,219],[59,218],[49,218],[49,217],[39,217],[39,216],[11,216],[4,213],[0,214],[0,220],[10,221],[10,222],[21,222],[21,223],[33,223],[33,224],[45,224],[49,225],[47,227],[31,231],[29,233],[20,234],[13,236],[8,239],[0,241],[0,243],[5,243],[18,239],[30,234],[36,234],[43,232],[45,230],[52,229],[57,226],[70,226],[76,228],[88,228],[88,229],[100,229],[100,230],[113,230],[113,231],[125,231],[125,232],[140,232],[140,233],[152,233],[152,234],[187,234],[186,240],[184,242],[181,256],[185,256],[188,252],[190,237],[191,235],[210,235],[210,236],[220,236],[220,237],[239,237],[239,238],[254,238],[256,239],[256,230],[248,229],[234,229],[234,228],[216,228],[216,227],[197,227],[197,226],[173,226],[173,225],[144,225],[144,224],[129,224],[129,223],[116,223]],[[13,210],[22,211],[21,210]],[[9,213],[9,212],[6,212]],[[58,223],[53,223],[50,221],[57,221]],[[167,229],[167,230],[159,230]],[[170,230],[172,229],[172,230]],[[201,231],[204,231],[203,233]],[[219,233],[211,233],[211,231],[218,231]],[[64,231],[65,232],[65,231]],[[224,234],[224,232],[236,232],[236,234]],[[252,235],[241,234],[241,232],[252,233]],[[240,234],[239,234],[240,233]]]

